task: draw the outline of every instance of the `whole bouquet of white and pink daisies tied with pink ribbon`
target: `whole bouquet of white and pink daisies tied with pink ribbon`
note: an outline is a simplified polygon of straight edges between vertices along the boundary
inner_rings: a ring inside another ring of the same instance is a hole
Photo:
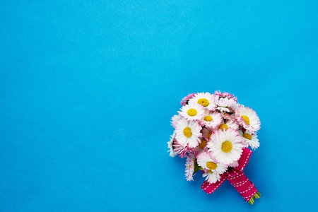
[[[261,194],[243,171],[252,154],[248,147],[259,147],[261,122],[257,113],[238,104],[234,95],[220,91],[189,94],[181,105],[172,117],[175,131],[167,143],[170,156],[187,158],[187,180],[193,180],[201,170],[206,177],[201,188],[212,194],[228,179],[249,204],[254,204]]]

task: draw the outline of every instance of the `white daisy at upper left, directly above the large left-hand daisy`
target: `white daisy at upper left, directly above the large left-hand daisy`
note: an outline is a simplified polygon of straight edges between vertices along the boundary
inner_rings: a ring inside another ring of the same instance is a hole
[[[189,105],[185,105],[181,108],[181,111],[178,111],[179,114],[187,119],[191,120],[200,120],[204,117],[204,107],[196,103],[189,103]]]

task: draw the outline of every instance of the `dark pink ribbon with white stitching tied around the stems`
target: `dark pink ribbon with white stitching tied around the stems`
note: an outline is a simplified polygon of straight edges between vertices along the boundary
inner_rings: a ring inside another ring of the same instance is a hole
[[[230,184],[235,187],[237,192],[239,192],[241,196],[249,202],[249,204],[254,204],[254,198],[259,199],[259,196],[261,194],[259,194],[254,184],[249,181],[249,179],[243,172],[245,166],[249,162],[251,154],[252,151],[250,151],[248,148],[244,148],[241,158],[237,161],[237,167],[234,167],[233,169],[225,172],[223,175],[220,175],[220,180],[216,183],[209,183],[207,181],[204,181],[201,188],[204,190],[204,192],[212,194],[216,191],[216,189],[218,189],[218,187],[220,187],[221,184],[223,184],[225,179],[228,179]]]

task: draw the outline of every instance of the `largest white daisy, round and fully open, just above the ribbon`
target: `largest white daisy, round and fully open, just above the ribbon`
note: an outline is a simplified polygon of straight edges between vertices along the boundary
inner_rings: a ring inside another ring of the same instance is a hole
[[[240,158],[244,146],[242,137],[235,129],[229,128],[226,131],[219,129],[211,136],[211,141],[207,145],[209,151],[220,163],[230,164]]]

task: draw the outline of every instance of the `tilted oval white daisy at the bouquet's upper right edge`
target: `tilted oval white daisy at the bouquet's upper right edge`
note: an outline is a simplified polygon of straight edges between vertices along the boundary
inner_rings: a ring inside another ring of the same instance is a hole
[[[261,128],[261,122],[257,113],[249,107],[238,105],[235,109],[237,122],[249,131],[258,131]]]

